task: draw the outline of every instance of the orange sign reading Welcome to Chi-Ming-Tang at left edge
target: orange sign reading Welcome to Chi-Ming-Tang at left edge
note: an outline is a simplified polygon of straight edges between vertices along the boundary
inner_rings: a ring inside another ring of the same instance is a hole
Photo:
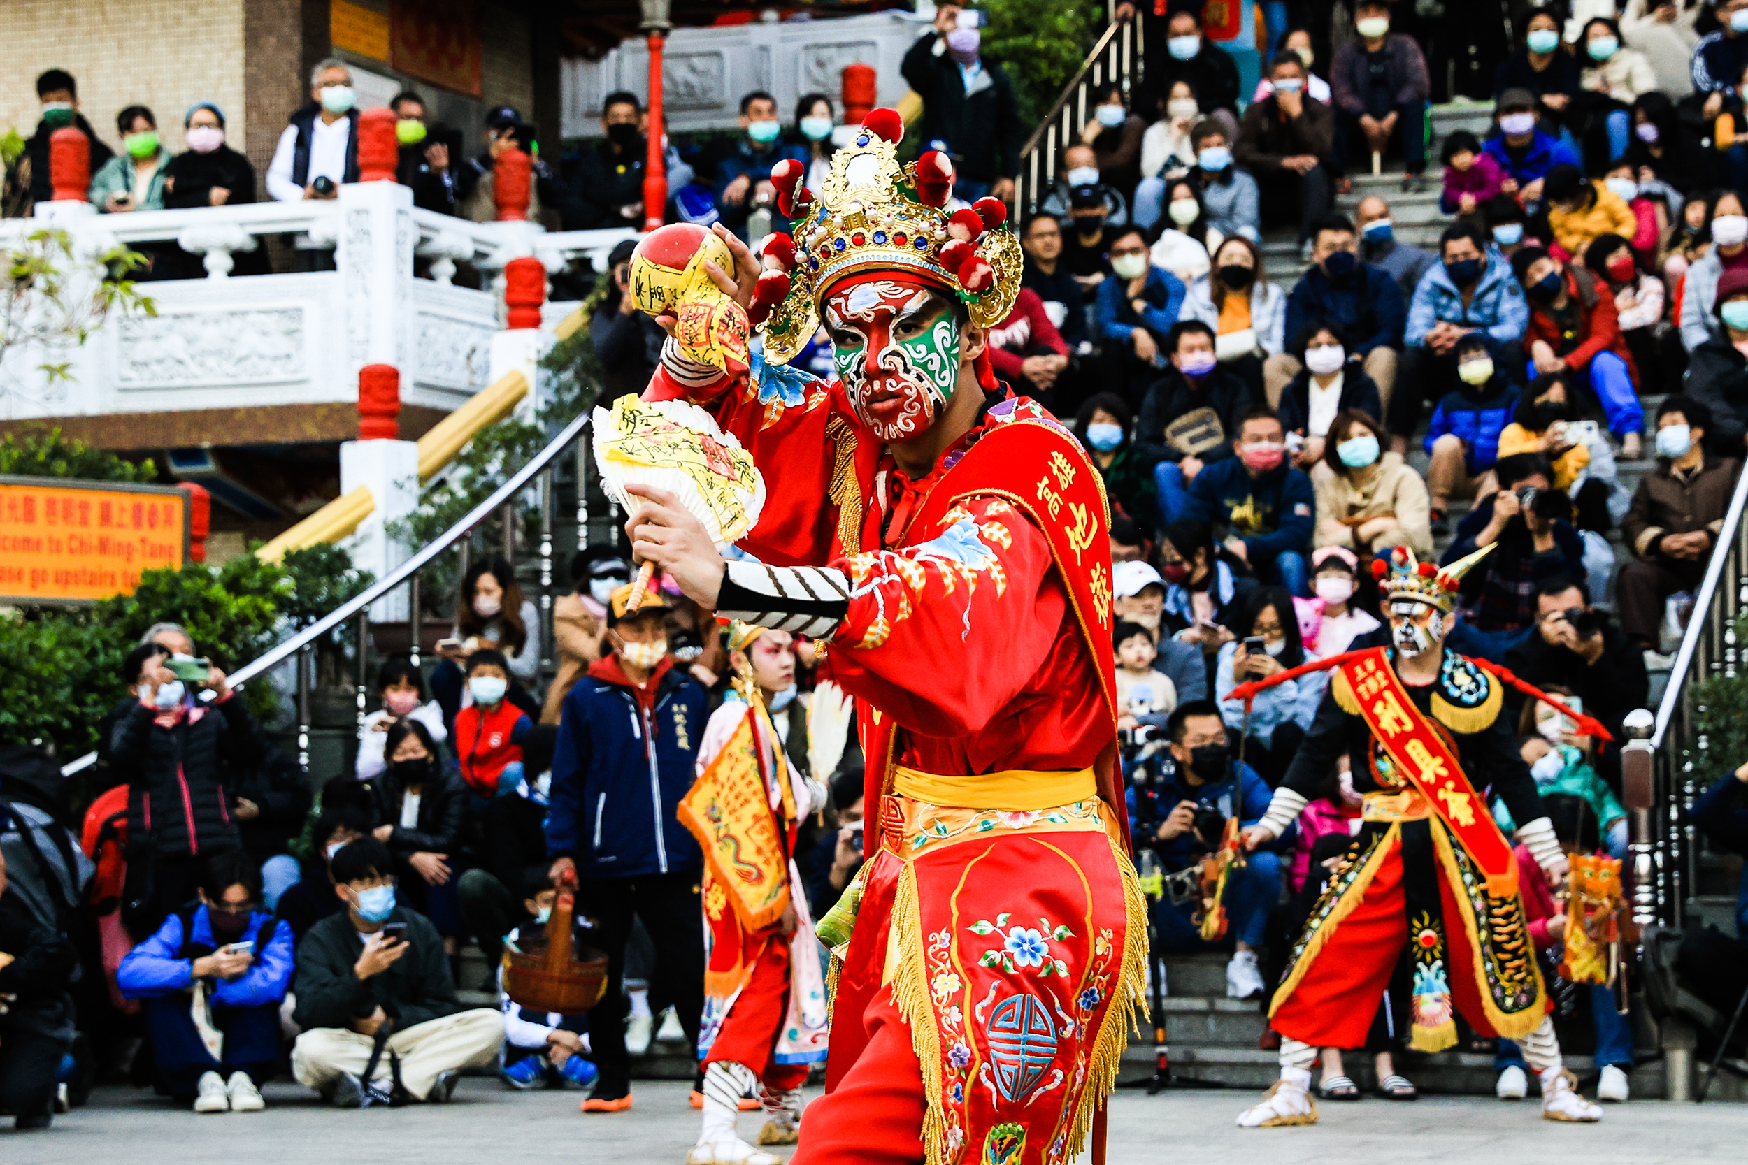
[[[189,557],[189,494],[0,477],[0,603],[91,603]]]

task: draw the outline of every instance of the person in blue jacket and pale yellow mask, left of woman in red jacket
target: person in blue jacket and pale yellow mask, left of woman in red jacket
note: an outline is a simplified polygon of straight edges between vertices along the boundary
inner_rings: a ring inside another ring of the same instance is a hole
[[[1432,527],[1444,533],[1451,498],[1479,498],[1493,489],[1493,465],[1500,458],[1500,433],[1517,410],[1517,386],[1505,379],[1479,335],[1456,344],[1458,384],[1432,412],[1425,447],[1432,458],[1426,489],[1432,494]]]

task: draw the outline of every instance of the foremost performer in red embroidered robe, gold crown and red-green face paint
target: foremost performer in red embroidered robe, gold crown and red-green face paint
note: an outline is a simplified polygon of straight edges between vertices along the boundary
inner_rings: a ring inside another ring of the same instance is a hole
[[[1141,997],[1145,901],[1115,760],[1108,510],[984,330],[1019,292],[1005,208],[940,210],[951,164],[897,161],[874,110],[795,236],[734,245],[743,376],[676,346],[645,396],[710,409],[767,496],[724,562],[659,491],[633,552],[720,615],[827,641],[867,755],[869,861],[834,948],[827,1093],[795,1165],[1056,1165],[1080,1151]],[[783,367],[823,318],[839,379]]]

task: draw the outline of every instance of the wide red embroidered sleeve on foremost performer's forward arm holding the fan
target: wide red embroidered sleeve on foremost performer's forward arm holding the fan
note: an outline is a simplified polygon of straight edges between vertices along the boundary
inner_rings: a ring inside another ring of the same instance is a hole
[[[1066,597],[1044,531],[1002,498],[947,512],[930,541],[857,554],[834,676],[900,725],[967,735],[1024,688],[1051,651]]]

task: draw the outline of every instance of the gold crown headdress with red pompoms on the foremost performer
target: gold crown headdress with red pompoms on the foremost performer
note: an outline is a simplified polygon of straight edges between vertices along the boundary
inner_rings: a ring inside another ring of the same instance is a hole
[[[1021,250],[1007,227],[1007,204],[981,197],[970,210],[944,210],[953,162],[930,150],[898,162],[904,122],[872,110],[851,143],[832,155],[818,197],[801,185],[806,164],[771,169],[778,210],[794,236],[773,234],[748,316],[764,332],[764,356],[787,363],[820,328],[820,302],[834,283],[864,271],[911,271],[953,292],[972,323],[989,328],[1019,297]]]

